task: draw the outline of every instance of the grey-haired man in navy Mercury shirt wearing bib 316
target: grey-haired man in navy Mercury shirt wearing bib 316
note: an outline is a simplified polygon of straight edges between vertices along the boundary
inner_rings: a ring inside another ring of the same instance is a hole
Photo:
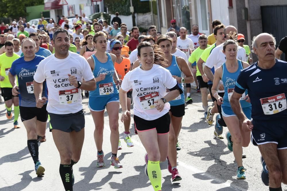
[[[230,104],[242,130],[252,131],[251,141],[258,145],[263,183],[269,190],[279,191],[282,182],[287,184],[287,62],[275,58],[275,44],[275,38],[267,33],[253,38],[258,62],[241,71]],[[245,89],[252,105],[252,121],[239,105]]]

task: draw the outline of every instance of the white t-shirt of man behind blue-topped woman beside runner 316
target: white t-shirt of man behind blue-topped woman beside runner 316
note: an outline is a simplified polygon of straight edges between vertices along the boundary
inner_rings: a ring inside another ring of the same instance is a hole
[[[245,53],[245,49],[242,48],[241,46],[237,46],[238,51],[237,51],[237,56],[236,58],[238,60],[242,60],[242,61],[246,61],[246,53]],[[217,68],[219,68],[225,61],[226,61],[226,57],[222,52],[223,50],[223,43],[216,46],[210,53],[210,55],[208,56],[205,66],[209,67],[209,68],[213,68],[214,66],[214,70],[216,70]],[[223,84],[222,80],[220,80],[220,83]],[[218,92],[224,92],[224,90],[218,90]]]

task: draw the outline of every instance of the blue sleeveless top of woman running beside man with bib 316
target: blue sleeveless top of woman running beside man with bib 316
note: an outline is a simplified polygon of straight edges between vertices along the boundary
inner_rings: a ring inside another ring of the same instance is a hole
[[[239,73],[241,72],[241,70],[244,69],[241,60],[237,60],[237,62],[238,62],[238,69],[236,72],[233,72],[233,73],[228,72],[225,62],[222,64],[222,82],[224,85],[224,96],[223,96],[223,104],[222,104],[223,107],[231,107],[229,103],[230,97],[232,95],[232,92],[234,91],[237,77],[239,76]],[[243,100],[247,94],[248,92],[247,90],[245,90],[245,93],[243,93],[242,97],[240,98],[241,108],[251,107],[250,103]]]

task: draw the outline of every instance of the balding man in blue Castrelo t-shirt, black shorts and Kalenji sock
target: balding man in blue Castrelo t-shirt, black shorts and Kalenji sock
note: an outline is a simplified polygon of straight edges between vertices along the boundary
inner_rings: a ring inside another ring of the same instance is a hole
[[[20,116],[27,131],[27,145],[35,164],[36,174],[43,176],[45,168],[39,160],[37,129],[46,130],[48,113],[47,104],[41,109],[36,107],[33,80],[38,64],[44,60],[44,57],[35,54],[36,43],[32,38],[25,38],[21,46],[24,56],[12,63],[8,76],[13,86],[12,94],[19,95]],[[19,86],[15,83],[16,76]],[[46,82],[43,83],[42,96],[47,97]]]

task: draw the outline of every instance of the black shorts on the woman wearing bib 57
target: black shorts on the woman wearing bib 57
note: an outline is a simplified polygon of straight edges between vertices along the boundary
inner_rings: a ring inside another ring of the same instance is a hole
[[[162,117],[151,120],[151,121],[142,119],[134,115],[133,120],[135,122],[135,133],[136,134],[137,132],[149,131],[153,129],[156,129],[158,134],[166,134],[169,132],[169,126],[170,126],[169,113],[166,113]]]

